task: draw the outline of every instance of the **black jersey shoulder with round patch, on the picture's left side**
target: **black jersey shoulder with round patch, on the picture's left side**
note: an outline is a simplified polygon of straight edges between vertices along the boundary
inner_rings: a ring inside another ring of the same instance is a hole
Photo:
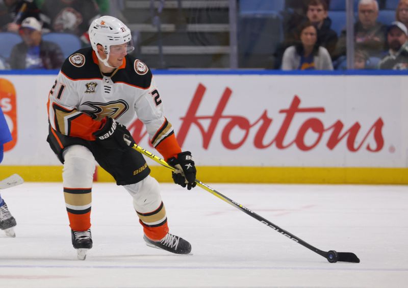
[[[99,66],[93,62],[92,51],[92,47],[75,51],[65,59],[61,71],[72,80],[102,78]]]

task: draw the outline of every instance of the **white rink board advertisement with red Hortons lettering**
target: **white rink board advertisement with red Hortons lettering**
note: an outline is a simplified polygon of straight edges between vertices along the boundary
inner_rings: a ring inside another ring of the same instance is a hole
[[[0,78],[2,109],[16,132],[3,164],[59,165],[45,141],[55,76]],[[177,140],[201,166],[408,167],[404,76],[159,74],[154,80]],[[128,128],[156,153],[140,120]]]

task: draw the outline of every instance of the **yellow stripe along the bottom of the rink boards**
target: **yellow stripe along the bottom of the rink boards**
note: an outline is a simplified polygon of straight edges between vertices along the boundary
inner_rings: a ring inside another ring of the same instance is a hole
[[[171,171],[150,166],[159,182],[172,182]],[[197,178],[208,183],[398,184],[408,185],[408,168],[338,167],[197,167]],[[0,166],[0,180],[18,173],[25,181],[62,181],[62,166]],[[99,182],[114,181],[97,167]]]

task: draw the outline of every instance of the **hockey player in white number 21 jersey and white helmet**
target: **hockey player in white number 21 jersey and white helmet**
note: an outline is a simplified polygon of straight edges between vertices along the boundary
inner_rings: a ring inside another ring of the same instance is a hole
[[[126,129],[135,116],[146,125],[152,145],[176,168],[176,184],[195,187],[196,169],[182,152],[149,68],[128,55],[131,32],[120,20],[102,16],[89,28],[92,47],[69,56],[49,92],[50,147],[64,164],[64,197],[72,245],[80,259],[92,248],[91,189],[94,160],[133,197],[148,246],[188,254],[191,245],[170,234],[157,180]]]

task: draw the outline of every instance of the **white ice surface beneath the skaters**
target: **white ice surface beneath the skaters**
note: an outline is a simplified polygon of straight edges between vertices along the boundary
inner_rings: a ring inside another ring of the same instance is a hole
[[[324,251],[360,264],[330,264],[205,190],[162,184],[170,231],[193,255],[147,247],[132,198],[95,184],[93,248],[71,246],[61,184],[2,190],[17,220],[0,231],[0,287],[408,287],[408,187],[210,184]]]

